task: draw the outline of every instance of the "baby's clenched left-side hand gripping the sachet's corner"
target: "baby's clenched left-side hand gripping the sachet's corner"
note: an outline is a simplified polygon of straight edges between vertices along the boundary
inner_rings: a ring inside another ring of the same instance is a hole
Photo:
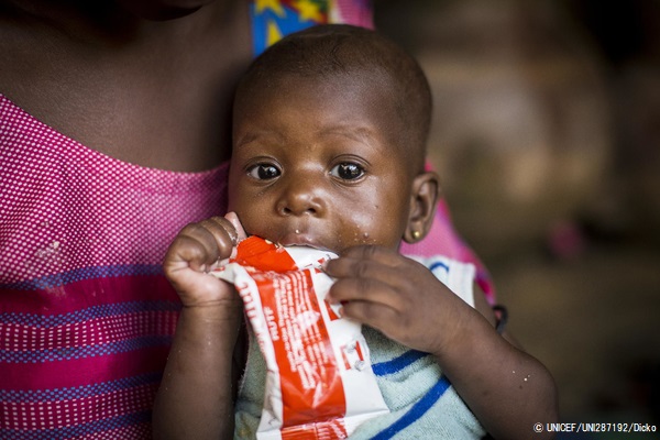
[[[229,258],[237,243],[245,238],[238,217],[212,217],[186,226],[174,239],[163,270],[187,307],[221,305],[240,306],[240,298],[229,284],[208,272]]]

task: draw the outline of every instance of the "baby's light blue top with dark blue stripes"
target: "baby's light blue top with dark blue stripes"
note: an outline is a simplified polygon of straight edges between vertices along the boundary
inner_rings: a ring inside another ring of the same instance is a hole
[[[473,306],[474,266],[444,257],[417,258]],[[485,435],[432,355],[363,327],[372,367],[391,413],[361,425],[351,440],[480,439]],[[251,336],[252,338],[252,336]],[[254,439],[264,400],[265,361],[251,341],[235,407],[234,439]]]

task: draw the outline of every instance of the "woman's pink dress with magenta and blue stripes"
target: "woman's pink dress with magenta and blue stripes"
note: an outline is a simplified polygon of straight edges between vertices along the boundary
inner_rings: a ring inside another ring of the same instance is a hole
[[[371,24],[366,1],[334,4],[321,21]],[[253,15],[255,43],[294,16]],[[227,170],[114,160],[0,95],[0,439],[151,438],[180,307],[161,263],[183,226],[224,213]],[[439,215],[431,239],[404,251],[477,263]]]

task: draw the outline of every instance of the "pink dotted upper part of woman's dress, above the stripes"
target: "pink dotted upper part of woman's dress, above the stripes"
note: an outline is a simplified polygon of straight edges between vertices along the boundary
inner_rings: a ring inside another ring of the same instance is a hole
[[[200,174],[143,168],[61,135],[6,98],[2,111],[4,283],[91,265],[158,265],[164,238],[208,206],[224,209],[227,165]]]

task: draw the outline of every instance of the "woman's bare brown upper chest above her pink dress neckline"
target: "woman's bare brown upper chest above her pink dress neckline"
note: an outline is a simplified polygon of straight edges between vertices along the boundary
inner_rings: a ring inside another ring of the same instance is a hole
[[[200,172],[229,157],[232,90],[253,56],[245,1],[108,19],[107,31],[74,13],[3,15],[0,91],[30,114],[141,166]]]

